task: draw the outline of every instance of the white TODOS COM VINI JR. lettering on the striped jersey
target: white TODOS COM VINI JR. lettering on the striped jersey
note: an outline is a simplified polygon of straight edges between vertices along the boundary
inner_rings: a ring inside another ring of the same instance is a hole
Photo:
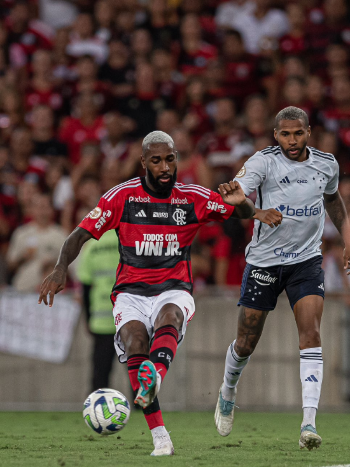
[[[137,256],[161,256],[163,254],[164,240],[168,241],[164,256],[179,256],[180,243],[176,233],[144,233],[143,241],[135,241]]]

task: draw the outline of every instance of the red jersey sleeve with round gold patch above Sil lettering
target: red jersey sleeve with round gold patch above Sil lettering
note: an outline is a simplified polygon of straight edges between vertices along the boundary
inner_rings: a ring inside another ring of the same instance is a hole
[[[123,212],[124,197],[116,195],[110,201],[102,197],[98,205],[80,222],[82,227],[91,233],[96,240],[108,230],[117,229]]]

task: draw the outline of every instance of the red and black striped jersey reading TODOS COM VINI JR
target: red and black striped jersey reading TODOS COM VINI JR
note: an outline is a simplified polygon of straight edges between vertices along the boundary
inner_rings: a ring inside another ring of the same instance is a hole
[[[107,230],[119,237],[119,292],[151,297],[166,290],[192,293],[191,243],[199,227],[228,219],[234,207],[199,185],[176,183],[164,197],[137,177],[107,191],[79,224],[97,240]]]

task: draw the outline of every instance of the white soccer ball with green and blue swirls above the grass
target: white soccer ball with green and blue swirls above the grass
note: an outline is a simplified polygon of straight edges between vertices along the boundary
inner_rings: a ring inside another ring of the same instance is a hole
[[[86,425],[101,435],[122,430],[130,417],[130,404],[124,394],[115,389],[98,389],[84,402]]]

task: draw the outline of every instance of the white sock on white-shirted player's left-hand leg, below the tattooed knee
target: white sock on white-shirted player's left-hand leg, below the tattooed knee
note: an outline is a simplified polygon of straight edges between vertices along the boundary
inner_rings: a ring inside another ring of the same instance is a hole
[[[235,340],[232,342],[230,347],[227,349],[226,362],[225,362],[225,374],[224,374],[224,386],[221,390],[221,394],[225,400],[232,401],[236,396],[236,386],[238,384],[239,377],[243,371],[243,368],[250,360],[249,357],[239,357],[234,349]]]

